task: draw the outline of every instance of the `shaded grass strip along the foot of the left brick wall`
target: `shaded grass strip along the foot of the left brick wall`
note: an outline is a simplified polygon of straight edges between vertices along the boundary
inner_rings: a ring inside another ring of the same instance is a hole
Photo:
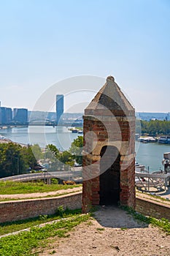
[[[59,211],[59,212],[58,212]],[[0,236],[7,234],[7,233],[12,233],[18,230],[23,230],[28,227],[34,227],[36,225],[45,223],[45,222],[51,222],[55,219],[61,219],[61,218],[66,218],[66,217],[74,217],[77,216],[77,214],[81,214],[82,210],[77,209],[77,210],[68,210],[66,211],[60,211],[60,208],[56,211],[56,214],[53,215],[40,215],[39,217],[34,217],[31,219],[23,219],[23,220],[18,220],[15,222],[4,222],[0,223]]]

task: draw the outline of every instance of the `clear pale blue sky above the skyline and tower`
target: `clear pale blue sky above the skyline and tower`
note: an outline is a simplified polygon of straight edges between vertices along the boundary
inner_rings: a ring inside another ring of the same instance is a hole
[[[169,31],[169,0],[0,0],[1,106],[42,110],[36,102],[54,84],[112,75],[136,111],[170,112]],[[80,86],[66,110],[101,86]]]

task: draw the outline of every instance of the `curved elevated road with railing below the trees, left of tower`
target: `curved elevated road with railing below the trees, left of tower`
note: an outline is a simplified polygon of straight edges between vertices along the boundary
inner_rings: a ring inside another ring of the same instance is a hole
[[[35,181],[44,180],[47,184],[50,184],[51,178],[59,178],[65,181],[82,182],[82,170],[68,170],[68,171],[55,171],[55,172],[41,172],[41,173],[27,173],[16,176],[9,176],[0,178],[0,181]]]

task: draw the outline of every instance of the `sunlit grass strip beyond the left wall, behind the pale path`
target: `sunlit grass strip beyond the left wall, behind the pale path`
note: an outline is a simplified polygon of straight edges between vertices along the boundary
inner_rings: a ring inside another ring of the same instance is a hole
[[[51,192],[61,189],[72,189],[74,187],[81,187],[81,184],[76,185],[62,185],[62,184],[44,184],[43,182],[14,182],[14,181],[0,181],[1,195],[15,195],[15,194],[29,194],[36,192]]]

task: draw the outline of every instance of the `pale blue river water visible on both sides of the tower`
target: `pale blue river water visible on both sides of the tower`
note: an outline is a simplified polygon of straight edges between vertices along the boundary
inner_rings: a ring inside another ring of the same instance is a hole
[[[0,134],[10,140],[23,144],[36,144],[45,148],[53,144],[60,150],[67,150],[77,138],[77,133],[72,133],[67,127],[25,127],[1,129]],[[136,142],[136,161],[149,167],[150,172],[163,169],[163,153],[170,152],[169,145],[158,143]]]

